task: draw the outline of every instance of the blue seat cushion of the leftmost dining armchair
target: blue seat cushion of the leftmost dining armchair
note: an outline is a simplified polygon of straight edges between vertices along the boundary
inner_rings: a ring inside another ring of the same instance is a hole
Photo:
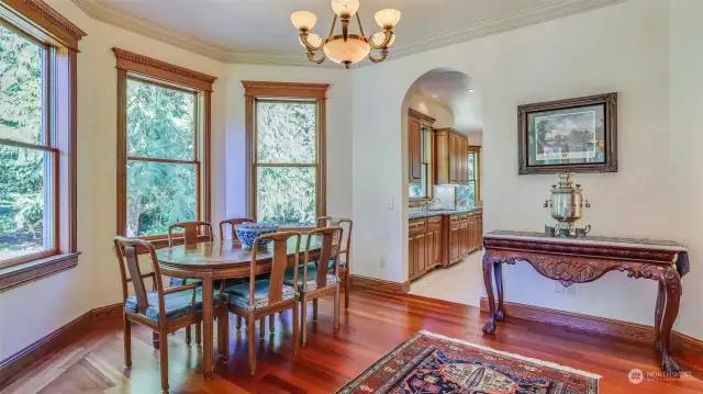
[[[202,289],[196,290],[196,308],[192,305],[193,291],[183,290],[176,293],[164,295],[164,304],[166,308],[166,318],[168,320],[175,320],[183,316],[188,316],[193,312],[200,312],[202,309]],[[146,308],[146,317],[157,322],[159,320],[159,306],[158,306],[158,293],[150,291],[146,293],[148,307]],[[213,295],[214,305],[220,303],[216,294]],[[137,313],[136,295],[129,296],[124,303],[124,308],[130,312]]]

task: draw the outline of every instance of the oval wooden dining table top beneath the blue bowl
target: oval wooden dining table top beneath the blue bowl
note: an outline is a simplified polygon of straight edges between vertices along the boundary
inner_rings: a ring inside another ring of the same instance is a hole
[[[293,259],[295,255],[297,238],[288,239],[288,256]],[[300,237],[300,263],[302,263],[305,252],[305,243],[308,235]],[[314,236],[310,240],[310,251],[313,254],[311,258],[316,257],[322,246],[322,237]],[[209,270],[209,269],[227,269],[241,266],[248,266],[252,262],[252,249],[245,249],[232,239],[215,239],[213,241],[203,241],[194,245],[178,245],[169,248],[158,249],[156,257],[159,264],[169,266],[180,269]],[[270,262],[274,256],[274,243],[266,247],[257,249],[256,262]]]

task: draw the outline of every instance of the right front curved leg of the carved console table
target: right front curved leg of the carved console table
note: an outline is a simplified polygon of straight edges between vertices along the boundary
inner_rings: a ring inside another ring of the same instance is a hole
[[[671,328],[673,322],[679,314],[679,302],[681,300],[681,277],[677,272],[676,268],[667,267],[663,269],[663,278],[659,279],[663,281],[663,285],[667,293],[667,303],[663,312],[663,319],[661,320],[661,331],[659,333],[659,339],[661,341],[661,369],[667,373],[678,374],[681,372],[681,368],[671,358],[670,339]]]

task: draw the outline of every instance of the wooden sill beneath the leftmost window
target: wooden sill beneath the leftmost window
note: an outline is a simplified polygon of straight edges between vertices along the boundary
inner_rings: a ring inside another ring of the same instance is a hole
[[[78,264],[76,254],[49,256],[0,269],[0,293],[69,270]]]

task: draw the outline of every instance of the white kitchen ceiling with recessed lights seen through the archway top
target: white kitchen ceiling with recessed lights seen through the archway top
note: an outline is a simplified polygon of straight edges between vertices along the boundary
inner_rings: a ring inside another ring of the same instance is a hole
[[[410,90],[450,110],[454,128],[459,132],[482,132],[481,92],[466,74],[432,70],[417,78]]]

